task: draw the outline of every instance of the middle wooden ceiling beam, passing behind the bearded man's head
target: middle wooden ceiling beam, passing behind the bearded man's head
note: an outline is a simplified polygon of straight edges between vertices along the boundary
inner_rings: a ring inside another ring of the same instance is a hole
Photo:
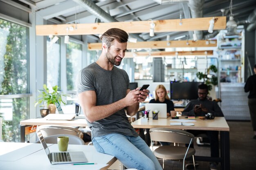
[[[188,44],[187,44],[188,42]],[[176,47],[216,47],[217,40],[175,40],[175,41],[146,41],[127,43],[127,49],[165,49],[165,48],[176,48]],[[88,43],[88,50],[101,50],[101,43]]]

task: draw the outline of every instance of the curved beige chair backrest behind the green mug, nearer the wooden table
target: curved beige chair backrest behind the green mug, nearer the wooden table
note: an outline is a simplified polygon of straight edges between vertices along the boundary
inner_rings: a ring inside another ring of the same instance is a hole
[[[58,134],[67,134],[81,137],[82,132],[76,128],[69,126],[60,126],[60,125],[41,125],[40,130],[43,137],[58,135]]]

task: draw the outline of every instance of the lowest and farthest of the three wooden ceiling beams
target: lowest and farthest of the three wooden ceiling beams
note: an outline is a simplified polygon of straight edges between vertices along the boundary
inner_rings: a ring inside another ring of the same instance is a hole
[[[151,51],[151,52],[126,52],[126,58],[134,58],[134,57],[164,57],[164,56],[181,56],[181,55],[213,55],[212,50],[206,51]]]

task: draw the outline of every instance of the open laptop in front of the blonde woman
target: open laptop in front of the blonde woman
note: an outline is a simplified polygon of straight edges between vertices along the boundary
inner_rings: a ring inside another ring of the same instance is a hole
[[[151,118],[152,111],[158,110],[158,118],[167,118],[167,104],[165,103],[146,103],[145,110],[150,110],[149,117]]]

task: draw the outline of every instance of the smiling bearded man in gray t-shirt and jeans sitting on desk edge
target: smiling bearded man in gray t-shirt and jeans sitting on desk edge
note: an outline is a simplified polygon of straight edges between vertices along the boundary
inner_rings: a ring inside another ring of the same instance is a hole
[[[92,143],[98,152],[115,156],[126,168],[162,170],[157,158],[128,121],[137,113],[148,90],[130,91],[127,73],[117,68],[124,58],[128,34],[117,28],[101,36],[99,59],[83,68],[76,79],[81,107]]]

